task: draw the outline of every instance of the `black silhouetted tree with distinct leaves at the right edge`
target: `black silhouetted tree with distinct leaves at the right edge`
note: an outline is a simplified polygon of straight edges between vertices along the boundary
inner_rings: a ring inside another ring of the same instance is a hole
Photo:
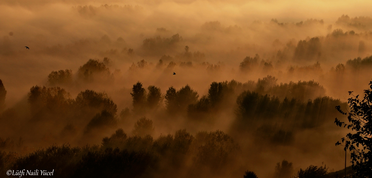
[[[353,133],[346,134],[343,137],[341,144],[337,141],[337,145],[344,146],[344,150],[350,150],[352,158],[352,167],[356,170],[356,174],[360,177],[372,175],[372,81],[369,82],[369,89],[364,90],[363,99],[359,99],[359,95],[353,95],[347,100],[350,111],[343,112],[340,106],[336,109],[343,115],[347,115],[348,124],[341,122],[337,118],[334,123],[338,126],[344,125],[344,128],[351,129]]]

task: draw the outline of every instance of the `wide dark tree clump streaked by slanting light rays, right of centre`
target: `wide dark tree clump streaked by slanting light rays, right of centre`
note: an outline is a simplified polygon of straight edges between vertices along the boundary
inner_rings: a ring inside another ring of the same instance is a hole
[[[337,112],[331,109],[333,106],[344,105],[339,99],[328,96],[302,102],[294,98],[280,100],[275,96],[251,91],[242,92],[236,102],[238,105],[236,114],[240,124],[283,118],[286,123],[293,123],[302,128],[317,127],[324,123],[327,117],[337,115]]]

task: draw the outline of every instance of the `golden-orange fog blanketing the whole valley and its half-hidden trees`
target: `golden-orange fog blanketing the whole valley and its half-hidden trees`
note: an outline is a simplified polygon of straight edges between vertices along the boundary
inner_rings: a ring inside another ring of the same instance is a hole
[[[42,169],[27,155],[64,143],[81,148],[67,177],[93,174],[88,152],[109,147],[148,154],[133,177],[343,169],[334,108],[369,87],[370,5],[0,0],[0,152],[17,154],[0,170]]]

